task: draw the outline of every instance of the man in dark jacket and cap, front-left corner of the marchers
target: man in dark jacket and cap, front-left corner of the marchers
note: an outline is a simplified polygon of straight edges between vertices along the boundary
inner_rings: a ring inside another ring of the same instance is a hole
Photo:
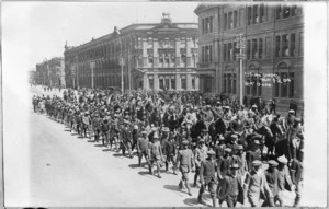
[[[217,186],[217,177],[216,177],[216,161],[215,161],[215,152],[213,150],[207,151],[207,158],[201,162],[200,165],[200,179],[201,179],[201,188],[198,190],[197,201],[203,202],[202,195],[205,191],[206,186],[208,186],[211,197],[213,200],[213,207],[216,207],[216,186]]]

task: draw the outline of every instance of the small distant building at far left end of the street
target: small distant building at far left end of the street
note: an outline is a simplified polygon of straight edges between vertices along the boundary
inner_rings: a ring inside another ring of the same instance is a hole
[[[66,86],[64,58],[54,57],[36,65],[36,80],[38,84],[48,86]]]

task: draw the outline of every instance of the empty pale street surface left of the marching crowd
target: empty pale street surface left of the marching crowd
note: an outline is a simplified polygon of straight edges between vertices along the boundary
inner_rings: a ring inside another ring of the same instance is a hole
[[[32,94],[58,94],[37,88]],[[32,97],[32,95],[31,95]],[[29,170],[12,169],[10,174],[25,176],[25,195],[18,195],[20,184],[8,184],[5,206],[29,207],[206,207],[211,196],[206,191],[206,205],[197,204],[198,187],[193,196],[179,189],[181,175],[166,174],[162,178],[148,174],[146,164],[138,167],[138,159],[129,159],[110,151],[101,143],[70,132],[63,124],[29,108],[29,151],[24,152]],[[22,159],[24,155],[22,156]],[[14,172],[20,171],[20,172]],[[13,178],[14,175],[7,178]],[[193,179],[190,173],[190,179]],[[191,181],[190,181],[191,182]],[[192,184],[191,184],[192,185]],[[26,188],[27,187],[27,188]],[[294,193],[286,193],[291,206]],[[18,204],[21,202],[21,204]],[[217,202],[218,204],[218,202]],[[225,204],[223,206],[226,206]],[[241,205],[237,205],[241,207]],[[245,205],[243,207],[249,207]]]

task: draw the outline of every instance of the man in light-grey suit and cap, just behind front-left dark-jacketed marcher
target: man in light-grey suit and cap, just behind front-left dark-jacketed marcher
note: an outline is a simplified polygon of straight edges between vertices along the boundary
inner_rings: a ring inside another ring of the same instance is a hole
[[[188,189],[188,194],[192,196],[189,183],[189,173],[194,172],[194,155],[192,150],[189,149],[189,141],[184,140],[182,142],[183,149],[178,152],[177,156],[177,167],[180,169],[182,173],[182,179],[180,181],[180,188],[183,188],[183,183],[185,183],[185,187]]]

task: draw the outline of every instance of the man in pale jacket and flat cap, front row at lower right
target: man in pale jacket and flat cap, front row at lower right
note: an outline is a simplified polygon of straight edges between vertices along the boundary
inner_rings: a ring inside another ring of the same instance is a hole
[[[261,169],[262,162],[256,160],[251,165],[252,169],[245,181],[245,196],[248,197],[251,207],[260,207],[261,199],[273,198],[273,194]]]

